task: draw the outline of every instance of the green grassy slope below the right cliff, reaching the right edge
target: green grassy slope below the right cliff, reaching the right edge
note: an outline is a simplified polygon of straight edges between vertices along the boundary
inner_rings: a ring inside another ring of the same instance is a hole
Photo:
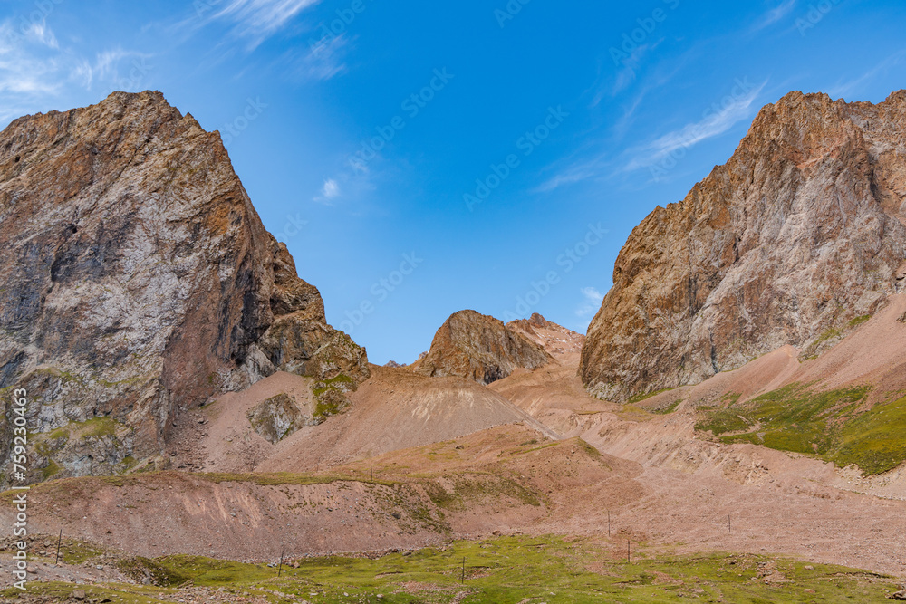
[[[816,455],[865,475],[892,470],[906,460],[906,398],[863,410],[871,388],[813,392],[792,384],[747,403],[700,407],[700,431],[726,443],[748,442],[781,451]],[[737,398],[738,400],[738,398]]]

